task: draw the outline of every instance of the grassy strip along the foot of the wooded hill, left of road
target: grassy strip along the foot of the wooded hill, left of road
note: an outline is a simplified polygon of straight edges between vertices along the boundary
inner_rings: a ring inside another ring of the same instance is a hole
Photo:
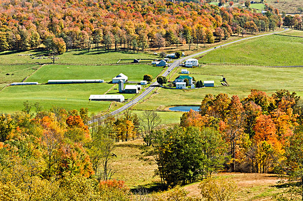
[[[25,56],[18,56],[20,54],[32,54]],[[28,51],[4,51],[0,52],[0,64],[9,63],[48,63],[52,62],[50,58],[46,59],[33,59],[36,55],[47,56],[48,52],[42,48],[28,50]],[[104,52],[104,50],[68,50],[62,55],[58,55],[56,63],[73,63],[73,64],[107,64],[117,63],[119,59],[134,59],[134,58],[155,58],[154,55],[145,53],[132,53],[132,52]]]

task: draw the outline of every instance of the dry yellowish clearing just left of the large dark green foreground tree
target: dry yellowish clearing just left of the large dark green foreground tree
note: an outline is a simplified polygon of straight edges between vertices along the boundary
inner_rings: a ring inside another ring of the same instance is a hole
[[[141,147],[143,140],[116,143],[113,153],[117,157],[111,159],[111,164],[117,173],[112,179],[123,180],[130,188],[150,187],[160,182],[160,177],[155,176],[157,164],[153,156],[143,156]]]

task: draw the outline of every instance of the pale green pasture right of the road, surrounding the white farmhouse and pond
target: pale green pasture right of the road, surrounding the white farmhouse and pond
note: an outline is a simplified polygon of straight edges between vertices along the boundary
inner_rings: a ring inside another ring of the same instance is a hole
[[[230,87],[208,87],[203,89],[176,90],[159,89],[148,100],[137,104],[134,109],[157,109],[159,106],[199,105],[206,94],[227,93],[229,96],[247,96],[250,89],[263,90],[269,94],[276,90],[295,91],[303,96],[301,78],[303,68],[265,68],[260,66],[207,65],[189,72],[223,74]],[[189,74],[189,76],[194,76]]]

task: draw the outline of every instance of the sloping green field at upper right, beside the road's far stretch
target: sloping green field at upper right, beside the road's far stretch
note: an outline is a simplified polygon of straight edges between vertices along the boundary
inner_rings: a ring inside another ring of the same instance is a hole
[[[303,38],[270,35],[211,51],[200,63],[302,65]]]

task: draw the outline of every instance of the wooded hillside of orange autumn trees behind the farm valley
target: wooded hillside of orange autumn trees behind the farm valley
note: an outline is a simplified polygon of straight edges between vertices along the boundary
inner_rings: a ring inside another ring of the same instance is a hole
[[[144,50],[147,46],[213,43],[233,33],[273,30],[278,10],[266,15],[219,8],[201,1],[0,0],[0,51],[51,48],[62,38],[67,48],[104,43]],[[214,37],[215,36],[215,37]],[[57,39],[58,41],[58,39]]]

